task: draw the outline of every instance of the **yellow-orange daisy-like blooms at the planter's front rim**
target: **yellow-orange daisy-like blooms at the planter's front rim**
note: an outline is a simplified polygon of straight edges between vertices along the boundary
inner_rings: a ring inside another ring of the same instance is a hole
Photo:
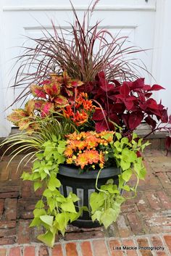
[[[67,164],[75,164],[83,169],[86,165],[99,165],[104,168],[104,155],[113,141],[114,131],[95,131],[71,133],[67,135],[67,146],[64,151]]]

